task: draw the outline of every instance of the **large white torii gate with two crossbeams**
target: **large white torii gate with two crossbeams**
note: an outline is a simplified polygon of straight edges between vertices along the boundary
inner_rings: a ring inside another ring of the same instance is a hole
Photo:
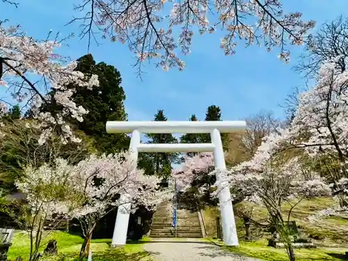
[[[214,152],[216,170],[226,169],[225,157],[220,133],[230,133],[246,129],[245,121],[108,121],[108,133],[132,133],[129,145],[131,157],[137,161],[138,152]],[[141,134],[165,133],[209,133],[212,143],[196,144],[141,144]],[[216,174],[216,180],[221,180]],[[227,246],[238,246],[235,216],[233,214],[230,189],[226,182],[219,182],[219,205],[221,212],[223,242]],[[120,200],[125,204],[118,207],[115,228],[113,229],[112,246],[126,244],[129,223],[129,195],[121,195]]]

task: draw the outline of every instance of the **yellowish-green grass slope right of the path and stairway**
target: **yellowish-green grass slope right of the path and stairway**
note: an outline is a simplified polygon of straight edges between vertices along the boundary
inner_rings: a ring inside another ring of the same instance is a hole
[[[348,229],[348,219],[346,216],[331,216],[322,219],[317,223],[310,223],[306,220],[307,216],[315,214],[315,212],[321,209],[326,209],[332,206],[332,198],[315,198],[312,200],[303,200],[297,207],[292,211],[291,219],[296,221],[297,226],[301,226],[301,236],[308,237],[318,236],[321,238],[317,243],[322,243],[327,246],[339,246],[338,248],[301,248],[295,249],[296,260],[299,261],[314,261],[314,260],[347,260],[343,258],[345,251],[348,251],[346,247],[348,245],[348,232],[342,232],[341,230]],[[289,212],[288,206],[284,206],[284,215]],[[205,209],[203,211],[205,219],[205,226],[207,228],[207,234],[209,237],[216,237],[216,216],[219,216],[218,208]],[[266,209],[257,207],[254,212],[254,219],[261,221],[267,217]],[[272,248],[267,246],[267,233],[256,240],[255,242],[244,242],[244,224],[240,219],[236,219],[237,232],[239,237],[239,247],[228,247],[228,249],[234,253],[241,255],[248,255],[253,258],[260,258],[269,261],[285,261],[288,260],[287,254],[284,248]],[[324,228],[323,228],[324,227]],[[252,228],[254,230],[254,228]],[[340,230],[340,231],[338,231]],[[217,244],[221,244],[217,240],[213,240]]]

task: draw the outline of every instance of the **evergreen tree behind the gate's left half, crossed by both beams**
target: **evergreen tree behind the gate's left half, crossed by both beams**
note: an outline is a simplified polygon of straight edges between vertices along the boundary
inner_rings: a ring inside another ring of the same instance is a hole
[[[166,121],[163,110],[158,110],[155,114],[155,121]],[[146,134],[147,143],[177,143],[173,134]],[[178,153],[141,153],[139,155],[139,168],[143,168],[148,175],[157,175],[164,180],[171,175],[171,164],[177,162]]]

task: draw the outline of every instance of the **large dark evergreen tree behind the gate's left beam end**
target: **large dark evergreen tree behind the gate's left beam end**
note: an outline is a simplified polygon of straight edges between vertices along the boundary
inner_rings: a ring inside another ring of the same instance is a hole
[[[120,72],[113,66],[106,63],[95,63],[93,56],[87,54],[77,60],[77,68],[86,75],[97,74],[100,86],[89,90],[84,87],[77,87],[77,91],[72,95],[77,106],[81,105],[89,111],[84,116],[84,121],[79,122],[71,119],[72,125],[83,131],[95,141],[95,148],[100,152],[109,154],[119,150],[127,150],[129,138],[125,134],[107,134],[105,125],[108,120],[127,120],[125,113],[125,92],[120,86]],[[54,92],[50,93],[54,95]],[[54,108],[52,108],[54,107]],[[61,106],[53,104],[47,110],[61,110]]]

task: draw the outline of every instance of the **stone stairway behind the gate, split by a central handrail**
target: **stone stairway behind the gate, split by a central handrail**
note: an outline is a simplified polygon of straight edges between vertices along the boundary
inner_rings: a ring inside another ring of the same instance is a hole
[[[152,220],[150,237],[175,237],[171,203],[164,203],[157,207]],[[177,209],[176,237],[203,237],[198,212]]]

